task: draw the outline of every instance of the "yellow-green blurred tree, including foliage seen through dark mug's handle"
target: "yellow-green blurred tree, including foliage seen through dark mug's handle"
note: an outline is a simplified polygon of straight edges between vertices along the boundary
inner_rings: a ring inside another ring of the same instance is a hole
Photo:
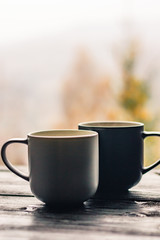
[[[138,45],[133,41],[129,43],[126,52],[123,52],[120,68],[122,71],[123,87],[119,92],[120,106],[128,113],[128,120],[140,121],[145,124],[145,130],[153,130],[157,126],[158,116],[148,107],[151,97],[148,79],[140,78],[135,73],[138,62]],[[159,157],[158,139],[150,138],[145,143],[145,163],[151,164]]]

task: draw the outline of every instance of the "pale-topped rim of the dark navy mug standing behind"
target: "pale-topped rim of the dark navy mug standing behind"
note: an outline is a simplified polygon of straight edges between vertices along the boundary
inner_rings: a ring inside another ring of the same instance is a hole
[[[89,121],[81,122],[78,124],[79,127],[89,127],[93,129],[110,129],[110,128],[136,128],[143,127],[144,123],[136,121]]]

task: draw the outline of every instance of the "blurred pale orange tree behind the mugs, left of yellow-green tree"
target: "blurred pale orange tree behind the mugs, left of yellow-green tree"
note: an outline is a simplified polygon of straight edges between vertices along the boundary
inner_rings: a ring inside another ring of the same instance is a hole
[[[64,122],[61,124],[77,128],[81,121],[111,118],[116,105],[113,94],[110,78],[99,75],[93,61],[81,50],[64,84]]]

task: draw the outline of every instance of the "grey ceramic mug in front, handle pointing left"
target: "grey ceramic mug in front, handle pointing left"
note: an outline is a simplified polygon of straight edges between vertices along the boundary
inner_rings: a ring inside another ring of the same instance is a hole
[[[6,157],[12,143],[28,145],[29,176],[16,169]],[[89,199],[98,185],[98,134],[83,130],[49,130],[10,139],[3,146],[4,164],[30,182],[33,194],[48,205],[79,205]]]

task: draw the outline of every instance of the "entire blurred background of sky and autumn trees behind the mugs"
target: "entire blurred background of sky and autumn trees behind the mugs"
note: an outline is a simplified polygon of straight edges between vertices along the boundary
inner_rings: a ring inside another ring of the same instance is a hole
[[[160,131],[159,0],[0,0],[0,147],[88,120]],[[27,164],[27,147],[8,149]],[[160,141],[145,141],[145,165]]]

